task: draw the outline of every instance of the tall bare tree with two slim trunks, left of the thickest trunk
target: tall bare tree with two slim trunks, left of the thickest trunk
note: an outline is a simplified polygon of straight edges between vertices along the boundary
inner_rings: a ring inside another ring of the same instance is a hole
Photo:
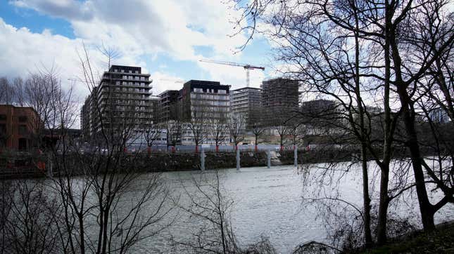
[[[301,8],[302,4],[310,7]],[[389,7],[391,10],[396,6]],[[386,18],[382,19],[381,15],[389,15],[386,17],[391,20],[395,13],[374,12],[379,9],[378,5],[363,1],[253,1],[244,8],[244,18],[250,21],[248,24],[252,24],[244,29],[256,30],[258,20],[273,27],[265,31],[265,34],[280,45],[277,58],[286,62],[290,68],[297,69],[296,72],[292,69],[287,74],[314,88],[309,88],[309,92],[322,93],[336,100],[347,112],[345,118],[349,123],[348,131],[361,144],[365,244],[368,246],[372,239],[368,226],[370,223],[367,222],[370,220],[370,198],[366,150],[369,150],[372,158],[382,168],[378,241],[383,243],[386,241],[386,210],[392,199],[388,189],[391,147],[400,114],[399,111],[391,114],[390,48],[386,33],[381,34],[383,31],[389,32],[386,30],[389,20],[384,22]],[[273,14],[270,15],[269,11]],[[377,31],[377,27],[382,29]],[[367,48],[372,50],[367,51]],[[360,79],[364,79],[364,82],[360,83]],[[370,91],[374,89],[384,92],[383,152],[377,151],[377,145],[374,145],[374,139],[368,131],[370,126],[365,125],[365,118],[370,117],[365,111],[365,100],[373,98],[374,94]],[[342,122],[334,124],[338,130],[346,129]]]

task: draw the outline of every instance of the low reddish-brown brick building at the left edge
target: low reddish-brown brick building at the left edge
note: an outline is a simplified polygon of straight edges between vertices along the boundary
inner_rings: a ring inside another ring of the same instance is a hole
[[[40,127],[42,123],[32,107],[0,105],[0,148],[31,149]]]

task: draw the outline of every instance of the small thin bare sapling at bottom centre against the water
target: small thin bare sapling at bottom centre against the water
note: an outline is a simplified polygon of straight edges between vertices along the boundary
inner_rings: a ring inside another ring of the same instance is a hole
[[[189,203],[176,204],[189,218],[197,219],[198,228],[189,241],[174,239],[177,246],[194,253],[277,253],[265,236],[246,249],[238,246],[229,216],[234,202],[222,186],[220,171],[193,175],[191,184],[182,183],[182,187]]]

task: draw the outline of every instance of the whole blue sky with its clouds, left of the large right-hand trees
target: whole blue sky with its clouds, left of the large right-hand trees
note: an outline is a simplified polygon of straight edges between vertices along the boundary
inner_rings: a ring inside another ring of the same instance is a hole
[[[78,100],[89,93],[80,82],[83,45],[100,73],[107,69],[98,48],[113,48],[113,64],[142,67],[152,93],[179,89],[190,79],[246,86],[242,67],[200,62],[239,62],[251,71],[251,86],[273,76],[271,46],[263,36],[239,51],[247,34],[232,36],[239,11],[221,0],[0,0],[0,76],[26,78],[56,67],[63,86]],[[274,75],[275,76],[275,75]]]

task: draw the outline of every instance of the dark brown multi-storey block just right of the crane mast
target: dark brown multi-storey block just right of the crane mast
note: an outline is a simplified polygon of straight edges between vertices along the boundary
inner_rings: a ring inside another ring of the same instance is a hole
[[[270,79],[262,83],[261,107],[270,121],[275,116],[290,118],[298,109],[299,83],[292,79]],[[271,123],[272,124],[272,123]]]

